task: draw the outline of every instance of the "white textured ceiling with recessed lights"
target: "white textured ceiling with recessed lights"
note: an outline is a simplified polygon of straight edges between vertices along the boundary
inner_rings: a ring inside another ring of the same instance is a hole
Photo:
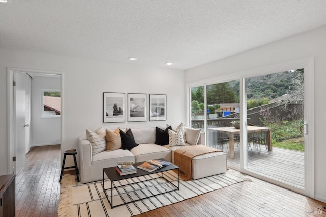
[[[0,48],[184,70],[325,24],[324,0],[9,0]]]

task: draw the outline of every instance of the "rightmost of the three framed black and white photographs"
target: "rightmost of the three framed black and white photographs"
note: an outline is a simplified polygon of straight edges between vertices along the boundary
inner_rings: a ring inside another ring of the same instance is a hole
[[[167,95],[149,94],[149,120],[167,120]]]

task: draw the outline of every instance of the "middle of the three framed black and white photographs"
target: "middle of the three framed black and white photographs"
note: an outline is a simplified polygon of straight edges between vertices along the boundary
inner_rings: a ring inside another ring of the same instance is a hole
[[[147,94],[128,93],[128,122],[147,121]]]

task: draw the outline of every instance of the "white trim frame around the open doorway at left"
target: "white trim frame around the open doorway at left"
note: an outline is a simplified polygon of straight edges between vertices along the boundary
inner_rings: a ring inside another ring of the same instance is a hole
[[[46,71],[46,70],[35,70],[35,69],[22,69],[22,68],[13,68],[7,67],[7,174],[13,174],[13,156],[15,154],[16,148],[16,117],[14,111],[14,86],[13,86],[13,74],[14,72],[21,73],[40,73],[48,75],[60,75],[61,76],[61,144],[63,143],[64,138],[64,73],[58,71]]]

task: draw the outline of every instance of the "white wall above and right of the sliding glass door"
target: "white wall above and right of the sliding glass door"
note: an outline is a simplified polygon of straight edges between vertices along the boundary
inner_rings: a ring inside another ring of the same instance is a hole
[[[273,33],[271,33],[273,34]],[[315,198],[326,202],[326,26],[267,44],[238,55],[186,70],[186,83],[195,83],[256,68],[314,57]]]

